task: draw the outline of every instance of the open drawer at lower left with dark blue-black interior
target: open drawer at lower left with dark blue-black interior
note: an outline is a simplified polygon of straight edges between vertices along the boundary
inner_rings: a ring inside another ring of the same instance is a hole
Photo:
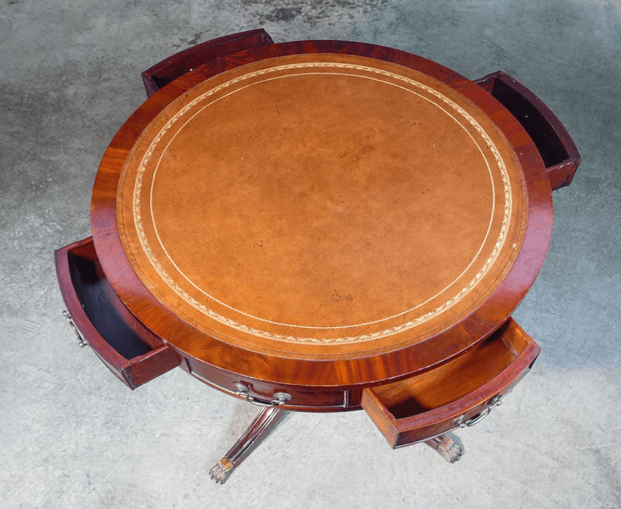
[[[135,389],[181,364],[175,350],[138,322],[114,293],[97,259],[93,237],[54,255],[70,323],[120,381]]]

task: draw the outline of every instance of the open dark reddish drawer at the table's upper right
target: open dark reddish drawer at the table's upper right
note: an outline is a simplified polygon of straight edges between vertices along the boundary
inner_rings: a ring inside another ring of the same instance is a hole
[[[524,126],[546,164],[552,190],[569,186],[581,162],[569,132],[550,108],[519,81],[502,71],[475,79]]]

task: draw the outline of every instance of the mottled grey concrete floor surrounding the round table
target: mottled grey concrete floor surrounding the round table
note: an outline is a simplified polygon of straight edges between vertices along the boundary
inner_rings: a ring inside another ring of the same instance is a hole
[[[0,508],[621,507],[621,7],[553,0],[2,0]],[[501,69],[582,153],[515,317],[543,348],[455,465],[392,451],[364,412],[289,415],[229,482],[212,464],[255,409],[175,370],[126,389],[64,309],[53,250],[89,235],[97,163],[145,99],[140,71],[265,27]]]

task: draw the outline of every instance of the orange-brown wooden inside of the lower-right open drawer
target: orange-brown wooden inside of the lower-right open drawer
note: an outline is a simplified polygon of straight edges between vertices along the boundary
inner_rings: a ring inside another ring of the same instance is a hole
[[[412,378],[374,387],[396,419],[410,417],[470,394],[498,376],[524,351],[527,341],[505,323],[487,340],[442,366]]]

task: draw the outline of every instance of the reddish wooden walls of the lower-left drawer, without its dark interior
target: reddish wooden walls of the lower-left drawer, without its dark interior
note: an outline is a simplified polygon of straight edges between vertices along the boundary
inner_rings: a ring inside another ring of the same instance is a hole
[[[170,371],[173,367],[179,366],[181,358],[179,358],[175,350],[169,345],[163,344],[156,335],[145,328],[142,323],[138,322],[134,315],[120,302],[112,289],[109,289],[105,297],[103,297],[107,299],[106,304],[111,304],[112,307],[114,307],[127,327],[134,331],[138,338],[140,338],[148,348],[151,348],[151,351],[127,359],[117,352],[116,349],[104,339],[102,333],[91,323],[91,320],[89,320],[89,317],[83,309],[83,305],[79,300],[74,283],[71,279],[70,254],[88,259],[89,261],[95,262],[97,265],[97,254],[94,250],[92,237],[60,248],[55,251],[54,254],[58,284],[73,322],[82,333],[84,340],[87,341],[97,356],[99,356],[103,363],[106,364],[120,381],[133,390],[166,371]]]

